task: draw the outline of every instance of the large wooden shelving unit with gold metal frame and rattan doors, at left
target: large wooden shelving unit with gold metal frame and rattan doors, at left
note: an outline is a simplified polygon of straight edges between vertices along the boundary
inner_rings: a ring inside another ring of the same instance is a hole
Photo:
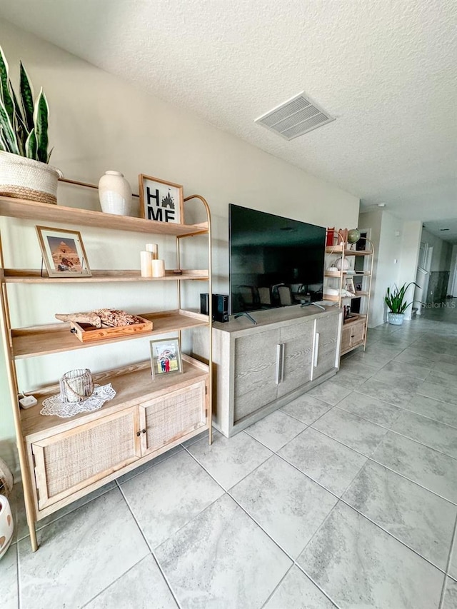
[[[96,188],[89,184],[79,185]],[[209,443],[212,441],[212,378],[209,373],[212,369],[211,213],[203,197],[193,195],[185,198],[184,202],[191,199],[198,199],[203,204],[206,222],[162,223],[0,196],[0,216],[34,220],[36,223],[52,223],[52,226],[61,223],[91,226],[104,231],[130,231],[151,236],[176,237],[178,268],[167,270],[166,275],[161,278],[143,278],[136,269],[97,269],[91,271],[90,277],[49,277],[46,271],[40,268],[5,268],[0,247],[1,335],[14,411],[27,521],[34,551],[38,547],[35,532],[37,520],[201,431],[208,430]],[[196,235],[207,237],[207,268],[179,268],[181,240]],[[48,283],[60,283],[64,289],[64,286],[70,283],[89,283],[95,286],[114,282],[152,284],[157,281],[176,282],[176,308],[154,313],[138,313],[153,323],[152,331],[146,333],[81,343],[74,333],[71,333],[69,323],[11,327],[8,293],[11,284],[30,284],[30,289],[33,289],[34,284],[44,286]],[[209,316],[182,308],[181,287],[186,281],[207,282],[205,291],[210,294]],[[69,419],[40,414],[46,396],[59,393],[58,383],[34,391],[34,396],[38,399],[36,406],[25,411],[19,408],[16,362],[21,359],[81,348],[96,348],[108,343],[170,332],[179,333],[181,338],[181,331],[199,326],[208,328],[207,363],[183,355],[181,374],[159,376],[154,383],[151,380],[150,361],[94,375],[94,383],[113,383],[116,389],[115,398],[97,411],[79,413]],[[55,462],[56,455],[59,455],[59,463]]]

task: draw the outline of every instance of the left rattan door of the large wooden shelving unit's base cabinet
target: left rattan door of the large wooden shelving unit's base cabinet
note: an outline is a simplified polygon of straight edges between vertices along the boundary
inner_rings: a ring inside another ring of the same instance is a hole
[[[134,406],[33,443],[39,510],[137,460],[138,431]]]

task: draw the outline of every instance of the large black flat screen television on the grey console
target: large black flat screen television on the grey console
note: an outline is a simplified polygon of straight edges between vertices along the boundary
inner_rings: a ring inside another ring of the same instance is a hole
[[[326,229],[229,205],[231,313],[323,298]]]

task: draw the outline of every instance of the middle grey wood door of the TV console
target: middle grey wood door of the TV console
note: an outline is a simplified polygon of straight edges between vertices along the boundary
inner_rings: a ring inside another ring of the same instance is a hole
[[[285,396],[304,383],[311,381],[313,361],[314,322],[303,320],[293,326],[281,328],[283,343],[281,383],[278,397]]]

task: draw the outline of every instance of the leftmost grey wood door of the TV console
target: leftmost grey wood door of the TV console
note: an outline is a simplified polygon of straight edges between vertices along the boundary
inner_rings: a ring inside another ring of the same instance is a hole
[[[279,343],[279,330],[249,333],[235,339],[233,421],[276,400]]]

